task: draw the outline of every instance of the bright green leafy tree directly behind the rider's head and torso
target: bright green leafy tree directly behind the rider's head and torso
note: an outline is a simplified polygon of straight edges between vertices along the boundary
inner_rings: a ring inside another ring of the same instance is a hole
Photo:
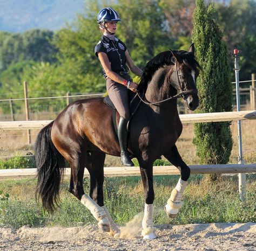
[[[118,4],[105,1],[86,1],[85,15],[60,30],[55,37],[59,49],[58,60],[66,73],[67,84],[80,92],[104,92],[102,68],[95,56],[94,47],[102,34],[96,23],[98,11],[111,6],[117,10],[122,22],[118,23],[117,37],[127,45],[136,65],[144,67],[158,52],[172,47],[173,40],[164,26],[163,10],[156,0],[120,0]]]

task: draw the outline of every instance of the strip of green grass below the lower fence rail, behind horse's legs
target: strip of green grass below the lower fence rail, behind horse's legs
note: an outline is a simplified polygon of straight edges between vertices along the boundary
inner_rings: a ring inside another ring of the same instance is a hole
[[[164,206],[177,180],[178,176],[154,177],[154,224],[256,222],[256,175],[247,177],[246,205],[240,203],[236,176],[223,176],[218,183],[209,183],[203,176],[192,175],[183,207],[176,219],[169,219]],[[89,178],[85,178],[85,193],[89,193],[89,183]],[[35,186],[35,179],[1,182],[0,226],[70,227],[97,223],[89,210],[67,191],[67,180],[62,184],[60,206],[53,214],[36,203]],[[140,177],[105,178],[104,198],[114,221],[124,225],[143,211],[144,191]]]

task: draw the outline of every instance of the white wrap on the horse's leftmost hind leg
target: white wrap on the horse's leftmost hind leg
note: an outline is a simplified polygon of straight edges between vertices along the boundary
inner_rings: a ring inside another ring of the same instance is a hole
[[[102,207],[100,207],[90,196],[84,194],[80,200],[85,205],[93,217],[98,220],[98,226],[104,232],[110,232],[109,220],[106,217],[106,213]]]

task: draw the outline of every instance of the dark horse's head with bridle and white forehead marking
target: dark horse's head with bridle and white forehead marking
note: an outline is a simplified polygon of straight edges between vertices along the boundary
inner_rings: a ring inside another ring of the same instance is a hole
[[[171,50],[171,53],[176,61],[170,72],[171,85],[183,96],[188,109],[195,110],[199,105],[196,82],[200,66],[194,57],[194,45],[188,52]]]

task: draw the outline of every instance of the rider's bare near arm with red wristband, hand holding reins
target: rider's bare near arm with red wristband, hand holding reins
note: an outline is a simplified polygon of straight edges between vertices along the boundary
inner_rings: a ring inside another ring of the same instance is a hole
[[[107,57],[107,54],[104,52],[98,52],[98,58],[99,58],[100,64],[102,64],[102,67],[106,75],[113,81],[124,84],[125,79],[123,79],[121,76],[119,76],[117,73],[111,70],[110,61],[109,61],[109,58]],[[136,88],[137,88],[136,83],[131,82],[130,90],[132,90],[133,92],[136,92]]]

